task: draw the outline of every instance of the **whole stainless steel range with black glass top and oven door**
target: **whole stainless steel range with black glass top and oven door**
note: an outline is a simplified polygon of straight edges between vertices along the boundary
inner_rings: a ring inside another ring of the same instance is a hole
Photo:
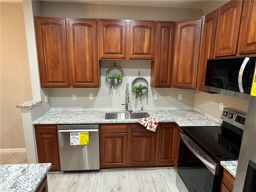
[[[221,119],[221,126],[181,127],[176,179],[180,191],[220,191],[220,161],[238,160],[246,114],[224,108]]]

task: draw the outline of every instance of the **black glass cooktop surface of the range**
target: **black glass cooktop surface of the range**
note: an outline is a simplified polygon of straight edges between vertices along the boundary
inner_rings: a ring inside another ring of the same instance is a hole
[[[228,135],[220,126],[189,126],[181,129],[216,163],[238,160],[240,139]]]

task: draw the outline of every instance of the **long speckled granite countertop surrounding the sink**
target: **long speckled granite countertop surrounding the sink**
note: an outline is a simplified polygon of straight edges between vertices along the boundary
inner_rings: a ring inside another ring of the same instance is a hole
[[[107,124],[136,123],[136,119],[106,120],[106,112],[124,110],[50,110],[33,124]],[[133,112],[141,112],[134,110]],[[175,122],[179,126],[220,126],[220,123],[194,109],[146,109],[151,116],[159,117],[159,122]]]

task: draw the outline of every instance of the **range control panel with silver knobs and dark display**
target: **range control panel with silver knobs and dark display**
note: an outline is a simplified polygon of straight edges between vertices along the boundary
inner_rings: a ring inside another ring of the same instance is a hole
[[[234,126],[244,129],[246,114],[230,108],[224,108],[220,117],[223,121],[228,122]]]

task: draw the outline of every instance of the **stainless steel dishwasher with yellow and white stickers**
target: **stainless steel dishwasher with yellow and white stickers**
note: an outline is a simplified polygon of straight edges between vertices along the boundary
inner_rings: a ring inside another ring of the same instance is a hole
[[[99,170],[99,125],[58,125],[60,170]],[[83,135],[89,143],[84,144]],[[79,143],[80,142],[80,143]]]

